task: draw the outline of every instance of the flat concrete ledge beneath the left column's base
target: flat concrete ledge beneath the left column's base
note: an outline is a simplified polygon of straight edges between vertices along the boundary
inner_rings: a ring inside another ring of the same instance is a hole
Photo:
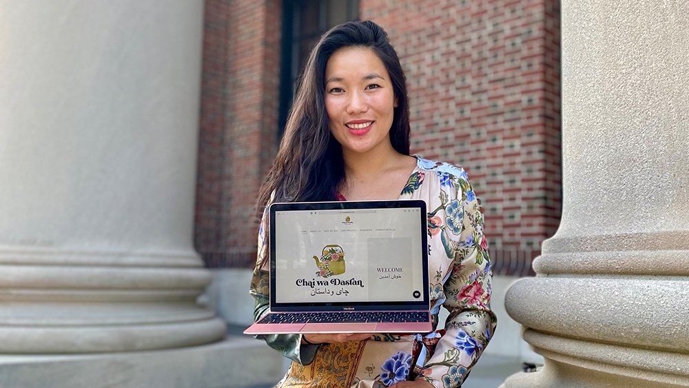
[[[235,388],[275,384],[282,375],[278,352],[262,341],[237,336],[163,351],[0,355],[0,387]]]

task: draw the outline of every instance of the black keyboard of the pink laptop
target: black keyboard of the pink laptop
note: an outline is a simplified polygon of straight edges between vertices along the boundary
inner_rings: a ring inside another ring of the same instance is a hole
[[[259,323],[380,323],[428,322],[428,312],[273,313]]]

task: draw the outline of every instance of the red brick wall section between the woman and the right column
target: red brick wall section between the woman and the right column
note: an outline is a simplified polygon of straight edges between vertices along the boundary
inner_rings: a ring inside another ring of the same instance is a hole
[[[412,151],[466,169],[496,274],[524,275],[561,205],[559,2],[361,0],[409,86]]]

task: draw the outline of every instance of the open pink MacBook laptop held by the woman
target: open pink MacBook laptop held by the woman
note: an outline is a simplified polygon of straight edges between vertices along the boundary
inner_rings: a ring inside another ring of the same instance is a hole
[[[274,203],[270,309],[245,334],[424,333],[422,200]]]

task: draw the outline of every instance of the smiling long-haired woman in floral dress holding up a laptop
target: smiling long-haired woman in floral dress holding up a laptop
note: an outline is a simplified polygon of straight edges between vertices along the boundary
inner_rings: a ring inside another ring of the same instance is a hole
[[[313,48],[276,161],[261,187],[271,202],[420,198],[428,205],[433,327],[425,334],[264,336],[293,360],[278,387],[459,387],[495,329],[483,217],[459,167],[409,154],[400,61],[371,21],[327,32]],[[267,312],[267,220],[251,281],[254,318]]]

